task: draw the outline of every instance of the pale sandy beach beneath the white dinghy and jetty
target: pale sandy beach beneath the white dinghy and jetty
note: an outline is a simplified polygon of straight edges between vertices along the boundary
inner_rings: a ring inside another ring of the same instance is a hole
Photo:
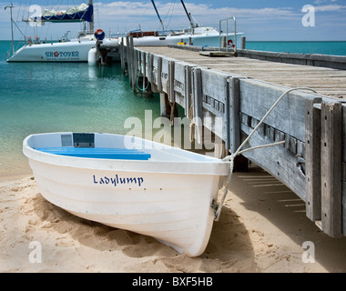
[[[30,175],[3,178],[0,203],[0,272],[346,271],[346,237],[323,234],[306,217],[304,202],[256,166],[233,175],[209,245],[195,258],[67,213],[40,195]],[[303,262],[304,242],[313,243],[314,263]],[[36,246],[41,262],[30,258]]]

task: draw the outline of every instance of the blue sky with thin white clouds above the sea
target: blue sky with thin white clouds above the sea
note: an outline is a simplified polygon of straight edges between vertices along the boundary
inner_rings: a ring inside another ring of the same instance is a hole
[[[87,2],[87,0],[84,0]],[[4,9],[10,0],[0,0],[0,39],[11,39],[10,11]],[[66,9],[83,0],[13,0],[15,24],[25,35],[41,39],[58,39],[70,31],[73,36],[81,29],[79,24],[46,24],[33,27],[22,22],[30,5],[44,9]],[[169,29],[187,28],[188,17],[180,0],[155,1],[164,25]],[[188,12],[199,25],[219,30],[219,20],[231,16],[237,19],[237,31],[248,41],[346,41],[346,0],[185,0]],[[129,30],[159,30],[160,23],[151,1],[94,1],[95,29],[107,35]],[[224,28],[223,28],[224,29]],[[15,26],[15,39],[21,34]]]

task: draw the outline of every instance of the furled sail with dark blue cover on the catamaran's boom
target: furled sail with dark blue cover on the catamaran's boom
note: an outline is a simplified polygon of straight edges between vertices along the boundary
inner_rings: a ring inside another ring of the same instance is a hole
[[[43,12],[41,16],[29,18],[26,21],[35,21],[35,22],[92,22],[94,14],[93,5],[81,4],[67,10],[47,10]]]

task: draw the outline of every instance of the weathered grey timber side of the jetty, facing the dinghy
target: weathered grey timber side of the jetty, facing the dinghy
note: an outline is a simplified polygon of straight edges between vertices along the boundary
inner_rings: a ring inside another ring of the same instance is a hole
[[[219,157],[228,151],[234,153],[288,89],[151,54],[134,47],[132,37],[123,39],[119,51],[121,67],[134,90],[140,71],[143,84],[148,82],[151,91],[183,107],[186,116],[192,108],[194,117],[202,123],[196,126],[198,142],[202,141],[201,128],[208,128],[222,140],[225,150]],[[204,122],[206,117],[209,122]],[[217,117],[221,124],[216,122]],[[285,143],[243,156],[299,196],[306,203],[307,216],[323,232],[333,237],[346,236],[345,105],[324,95],[291,92],[260,125],[248,146],[280,141]]]

